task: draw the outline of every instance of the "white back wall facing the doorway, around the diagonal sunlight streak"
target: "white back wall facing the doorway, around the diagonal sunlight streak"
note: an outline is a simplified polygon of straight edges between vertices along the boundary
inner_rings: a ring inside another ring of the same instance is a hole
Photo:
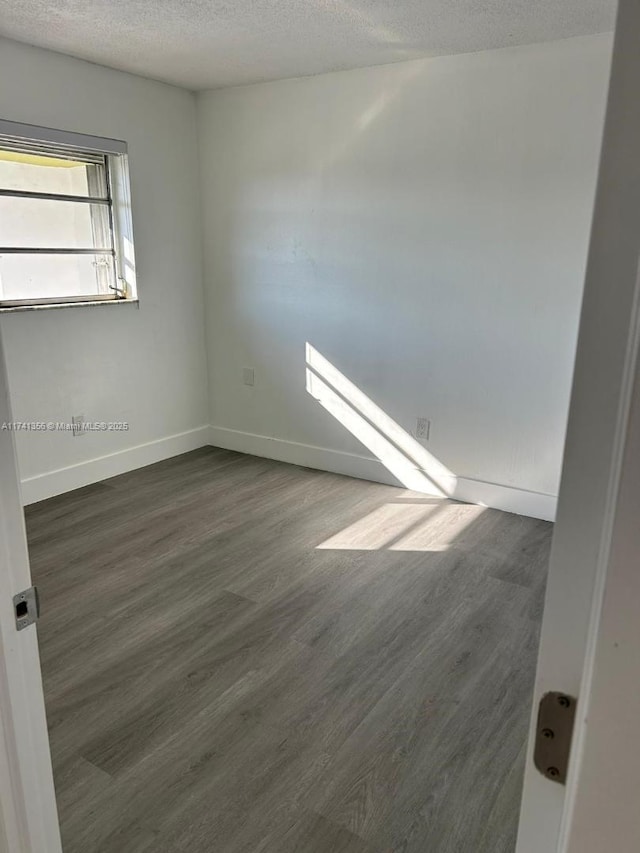
[[[556,495],[610,54],[595,36],[199,95],[214,443],[374,471],[305,391],[310,342],[405,430],[430,418],[467,485]]]

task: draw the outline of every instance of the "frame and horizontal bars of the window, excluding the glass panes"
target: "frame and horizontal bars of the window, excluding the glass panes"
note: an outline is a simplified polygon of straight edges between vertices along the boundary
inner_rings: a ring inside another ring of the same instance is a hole
[[[105,278],[103,292],[98,289],[100,270],[96,266],[96,292],[80,296],[56,295],[32,299],[1,299],[0,313],[28,309],[59,308],[72,305],[110,305],[137,303],[136,268],[131,221],[131,198],[129,186],[128,149],[126,142],[87,134],[55,130],[0,120],[0,149],[28,151],[43,157],[73,159],[76,154],[87,166],[92,163],[104,169],[104,195],[72,195],[65,193],[12,190],[0,188],[0,198],[30,198],[59,201],[62,203],[99,205],[107,208],[106,222],[98,223],[92,214],[92,230],[102,230],[108,237],[108,245],[90,248],[73,247],[20,247],[2,246],[0,255],[91,255],[96,258],[108,256],[113,259],[112,268]],[[90,184],[90,180],[89,180]],[[98,224],[97,224],[98,223]],[[111,292],[107,292],[107,288]]]

